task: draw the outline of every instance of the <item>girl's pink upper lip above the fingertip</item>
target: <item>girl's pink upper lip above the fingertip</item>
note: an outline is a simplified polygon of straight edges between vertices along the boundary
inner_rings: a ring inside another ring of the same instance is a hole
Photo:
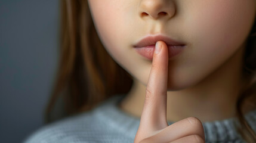
[[[167,45],[181,45],[184,46],[185,44],[182,42],[175,41],[168,36],[164,35],[148,35],[138,41],[135,45],[136,48],[155,45],[158,41],[164,41]]]

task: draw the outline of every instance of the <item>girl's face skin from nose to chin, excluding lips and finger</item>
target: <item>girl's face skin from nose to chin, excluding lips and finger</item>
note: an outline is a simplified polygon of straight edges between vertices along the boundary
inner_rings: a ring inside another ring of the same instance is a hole
[[[135,51],[135,42],[146,35],[162,33],[186,43],[183,52],[169,61],[168,89],[193,85],[232,57],[249,35],[256,10],[255,0],[88,2],[98,35],[109,54],[144,85],[152,61]]]

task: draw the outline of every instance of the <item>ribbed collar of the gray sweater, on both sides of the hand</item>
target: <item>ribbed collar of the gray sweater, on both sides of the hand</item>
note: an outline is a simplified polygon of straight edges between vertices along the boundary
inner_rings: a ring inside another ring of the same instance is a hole
[[[140,119],[118,107],[119,102],[124,98],[125,95],[115,95],[98,105],[94,112],[102,122],[134,139],[140,125]],[[245,114],[245,119],[256,130],[256,110]],[[169,125],[172,123],[168,122]],[[235,141],[238,138],[241,139],[235,128],[236,123],[238,123],[238,120],[235,117],[214,122],[203,122],[206,142],[229,142]]]

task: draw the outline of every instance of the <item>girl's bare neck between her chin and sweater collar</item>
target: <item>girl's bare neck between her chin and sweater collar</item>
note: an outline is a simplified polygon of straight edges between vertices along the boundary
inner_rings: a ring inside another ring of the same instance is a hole
[[[211,122],[235,117],[236,101],[240,90],[245,88],[245,81],[242,80],[244,47],[238,49],[221,67],[196,85],[180,91],[168,91],[167,120],[177,122],[193,116],[202,122]],[[146,86],[134,79],[120,108],[140,117],[145,94]]]

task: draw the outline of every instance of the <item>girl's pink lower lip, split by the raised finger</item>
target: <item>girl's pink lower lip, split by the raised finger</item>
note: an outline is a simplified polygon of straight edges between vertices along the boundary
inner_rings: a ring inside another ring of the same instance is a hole
[[[186,47],[186,45],[168,45],[168,58],[171,60],[176,55],[180,54],[181,51]],[[143,57],[147,58],[148,60],[153,60],[153,55],[155,51],[155,45],[150,45],[146,47],[134,47],[135,51],[138,54],[142,55]]]

